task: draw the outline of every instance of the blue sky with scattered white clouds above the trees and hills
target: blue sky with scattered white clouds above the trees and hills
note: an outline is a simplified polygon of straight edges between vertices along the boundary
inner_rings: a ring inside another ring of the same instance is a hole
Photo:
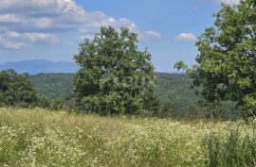
[[[83,38],[101,25],[128,26],[148,47],[157,72],[176,60],[194,63],[196,37],[213,24],[221,3],[238,0],[1,0],[0,63],[72,60]]]

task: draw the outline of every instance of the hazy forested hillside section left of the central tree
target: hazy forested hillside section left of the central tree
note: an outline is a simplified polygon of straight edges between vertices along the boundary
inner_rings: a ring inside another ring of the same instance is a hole
[[[29,75],[30,82],[38,92],[49,98],[65,97],[73,93],[73,74]]]

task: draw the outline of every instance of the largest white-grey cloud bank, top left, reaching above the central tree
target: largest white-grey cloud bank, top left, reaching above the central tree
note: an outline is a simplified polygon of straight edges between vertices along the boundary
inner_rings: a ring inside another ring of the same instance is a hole
[[[0,23],[18,31],[21,27],[32,31],[96,31],[102,25],[135,24],[127,19],[115,20],[102,12],[87,12],[72,0],[2,0]],[[46,29],[47,28],[47,29]]]

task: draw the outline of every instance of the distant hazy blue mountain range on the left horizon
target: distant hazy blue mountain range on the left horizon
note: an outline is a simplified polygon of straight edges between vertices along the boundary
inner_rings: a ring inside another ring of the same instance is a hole
[[[72,61],[33,59],[0,64],[0,70],[14,69],[17,73],[36,75],[41,73],[76,73],[78,66]]]

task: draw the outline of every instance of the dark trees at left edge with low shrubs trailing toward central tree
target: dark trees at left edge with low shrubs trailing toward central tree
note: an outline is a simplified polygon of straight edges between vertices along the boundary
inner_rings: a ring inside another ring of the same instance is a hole
[[[19,75],[14,70],[0,72],[0,105],[2,107],[71,109],[71,104],[67,103],[69,97],[51,99],[38,92],[28,77],[28,74]],[[70,106],[67,107],[67,105]]]

